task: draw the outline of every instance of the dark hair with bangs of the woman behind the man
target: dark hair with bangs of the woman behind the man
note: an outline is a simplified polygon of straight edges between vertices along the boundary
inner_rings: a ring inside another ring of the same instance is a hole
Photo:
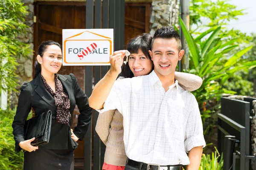
[[[147,57],[151,61],[148,50],[151,49],[150,46],[151,46],[152,38],[153,37],[148,33],[143,33],[141,35],[138,35],[128,42],[126,49],[131,54],[133,54],[133,53],[138,54],[138,51],[140,49],[143,52],[143,54],[145,55],[145,57]],[[134,74],[132,73],[128,63],[126,63],[126,65],[125,64],[122,65],[122,72],[121,72],[120,76],[125,77],[125,78],[134,77]]]

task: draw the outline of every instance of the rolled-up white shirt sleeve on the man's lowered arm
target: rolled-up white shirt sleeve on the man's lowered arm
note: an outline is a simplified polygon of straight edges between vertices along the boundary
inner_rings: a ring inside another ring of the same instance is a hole
[[[198,108],[198,102],[195,96],[192,97],[191,111],[186,124],[184,146],[185,151],[188,153],[192,148],[203,146],[205,147],[203,124],[201,114]]]

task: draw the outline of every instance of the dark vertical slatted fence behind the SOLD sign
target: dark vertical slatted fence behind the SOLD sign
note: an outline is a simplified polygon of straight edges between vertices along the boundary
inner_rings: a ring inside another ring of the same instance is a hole
[[[86,28],[113,28],[114,51],[123,49],[125,44],[125,0],[94,0],[94,2],[86,0]],[[109,67],[85,66],[84,89],[87,96],[91,95],[93,85],[105,76]],[[94,110],[92,122],[84,137],[84,170],[102,169],[105,145],[95,131],[98,116],[99,113]]]

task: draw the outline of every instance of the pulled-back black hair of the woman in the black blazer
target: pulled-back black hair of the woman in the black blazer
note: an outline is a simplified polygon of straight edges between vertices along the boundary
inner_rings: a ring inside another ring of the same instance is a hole
[[[57,45],[59,48],[61,48],[61,45],[58,42],[55,42],[52,40],[43,41],[38,47],[38,55],[43,57],[44,52],[46,51],[49,45]],[[41,64],[39,64],[38,60],[35,59],[35,75],[33,79],[35,79],[40,74],[40,72],[41,72]]]

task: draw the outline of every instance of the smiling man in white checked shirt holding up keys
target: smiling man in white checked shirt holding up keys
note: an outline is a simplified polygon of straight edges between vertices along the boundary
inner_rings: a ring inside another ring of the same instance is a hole
[[[100,113],[122,113],[125,170],[181,170],[181,165],[198,170],[205,146],[198,103],[174,79],[184,54],[179,34],[169,27],[157,29],[148,52],[154,71],[116,82],[125,50],[114,52],[111,69],[94,87],[89,105]]]

